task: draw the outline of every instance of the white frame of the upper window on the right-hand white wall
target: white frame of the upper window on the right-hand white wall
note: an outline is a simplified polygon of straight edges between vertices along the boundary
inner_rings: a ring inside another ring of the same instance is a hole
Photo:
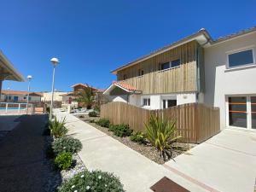
[[[247,63],[245,65],[239,65],[239,66],[235,66],[235,67],[230,67],[230,55],[236,54],[236,53],[240,53],[243,51],[247,51],[247,50],[252,50],[253,51],[253,62],[252,63]],[[242,68],[242,67],[248,67],[248,66],[253,66],[255,65],[255,50],[254,50],[254,45],[253,46],[248,46],[248,47],[244,47],[241,49],[234,49],[234,50],[230,50],[226,52],[226,58],[227,58],[227,63],[226,63],[226,68],[227,69],[234,69],[234,68]]]

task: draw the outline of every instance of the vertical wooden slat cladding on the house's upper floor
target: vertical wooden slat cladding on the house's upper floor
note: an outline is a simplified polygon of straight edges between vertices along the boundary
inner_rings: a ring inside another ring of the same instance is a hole
[[[142,90],[143,94],[196,91],[197,47],[195,41],[183,44],[119,71],[117,78]],[[180,59],[180,67],[159,71],[161,63],[177,59]],[[139,70],[143,70],[143,76],[138,76]],[[124,76],[127,79],[124,80]]]

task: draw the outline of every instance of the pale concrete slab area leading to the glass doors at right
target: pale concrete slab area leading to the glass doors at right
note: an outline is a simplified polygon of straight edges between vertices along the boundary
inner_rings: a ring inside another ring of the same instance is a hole
[[[212,191],[252,192],[256,133],[226,129],[164,166]]]

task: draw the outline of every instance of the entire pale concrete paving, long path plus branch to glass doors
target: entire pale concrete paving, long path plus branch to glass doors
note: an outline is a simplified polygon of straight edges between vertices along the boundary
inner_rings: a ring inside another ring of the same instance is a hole
[[[79,138],[79,153],[89,169],[114,172],[129,192],[149,188],[166,176],[189,191],[252,192],[256,177],[256,135],[245,131],[222,131],[160,166],[112,137],[77,119],[67,118],[69,134]]]

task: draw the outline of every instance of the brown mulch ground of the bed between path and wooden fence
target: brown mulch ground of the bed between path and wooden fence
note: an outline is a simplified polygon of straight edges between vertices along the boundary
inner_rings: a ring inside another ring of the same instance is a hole
[[[149,143],[145,144],[139,144],[134,143],[131,141],[130,137],[117,137],[113,135],[112,131],[108,131],[108,128],[102,127],[100,125],[96,125],[96,123],[92,123],[91,120],[98,120],[99,117],[89,117],[88,115],[77,115],[77,117],[86,123],[94,126],[96,129],[106,133],[108,136],[113,137],[114,139],[118,140],[120,143],[125,144],[129,148],[132,148],[133,150],[137,151],[140,154],[143,154],[145,157],[147,157],[149,160],[153,160],[154,162],[158,164],[164,164],[165,161],[163,158],[160,157],[160,153]],[[195,144],[191,143],[172,143],[172,158],[175,158],[179,154],[183,154],[187,152],[190,148],[193,148]]]

